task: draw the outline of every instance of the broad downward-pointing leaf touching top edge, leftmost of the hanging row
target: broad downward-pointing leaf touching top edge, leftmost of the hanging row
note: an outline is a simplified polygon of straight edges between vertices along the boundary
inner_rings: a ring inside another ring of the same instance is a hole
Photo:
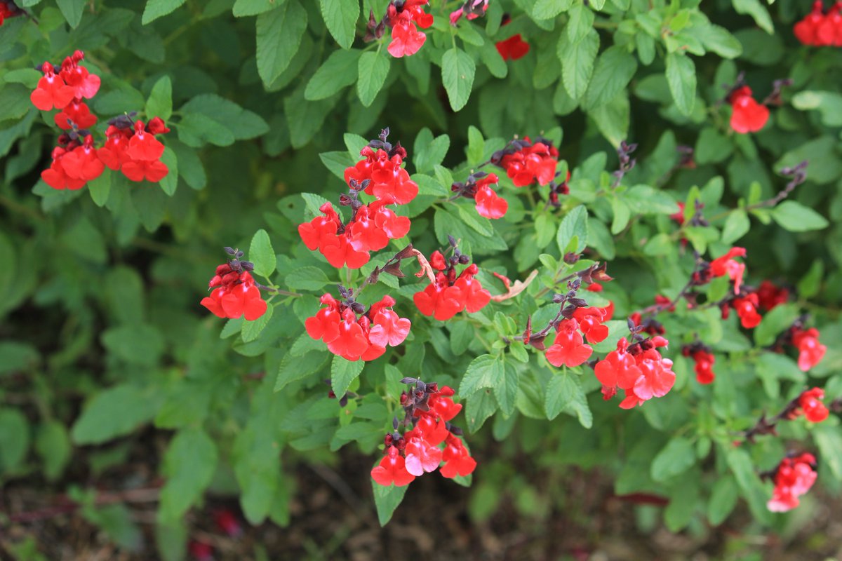
[[[287,0],[279,8],[258,15],[258,74],[269,87],[290,66],[307,27],[307,13],[298,0]]]

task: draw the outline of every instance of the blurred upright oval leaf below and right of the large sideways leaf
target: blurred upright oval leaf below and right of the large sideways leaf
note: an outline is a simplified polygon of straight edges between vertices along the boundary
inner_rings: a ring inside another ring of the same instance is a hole
[[[163,475],[158,516],[177,521],[201,497],[216,470],[216,444],[198,428],[184,429],[169,443],[163,458]]]

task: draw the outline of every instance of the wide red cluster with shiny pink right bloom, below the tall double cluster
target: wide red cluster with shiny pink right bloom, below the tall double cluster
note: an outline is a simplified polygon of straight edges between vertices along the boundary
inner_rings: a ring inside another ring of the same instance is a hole
[[[369,361],[381,357],[386,346],[397,347],[407,338],[412,324],[392,310],[391,296],[365,310],[354,299],[353,289],[340,286],[339,294],[342,300],[323,294],[321,302],[327,307],[304,322],[307,335],[324,341],[328,351],[350,361]]]

